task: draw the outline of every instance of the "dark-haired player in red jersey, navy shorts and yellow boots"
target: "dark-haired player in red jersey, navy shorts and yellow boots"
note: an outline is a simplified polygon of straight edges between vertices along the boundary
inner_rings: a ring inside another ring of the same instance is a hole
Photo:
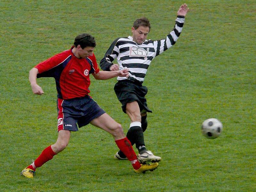
[[[44,91],[36,83],[36,78],[54,77],[55,79],[58,92],[58,139],[56,143],[45,148],[35,162],[23,169],[21,175],[33,178],[37,167],[42,166],[67,147],[71,131],[78,131],[78,127],[89,123],[112,134],[116,145],[131,161],[135,172],[153,171],[158,166],[158,163],[138,162],[131,142],[124,136],[122,126],[88,95],[90,74],[98,80],[128,76],[128,69],[100,71],[93,53],[95,46],[96,42],[91,35],[86,33],[78,35],[71,49],[54,55],[29,71],[31,88],[37,95],[44,94]]]

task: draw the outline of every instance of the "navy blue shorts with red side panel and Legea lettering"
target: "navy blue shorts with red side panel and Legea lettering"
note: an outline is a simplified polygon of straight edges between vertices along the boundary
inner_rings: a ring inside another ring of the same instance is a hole
[[[58,131],[78,131],[78,127],[89,124],[106,113],[90,96],[74,99],[57,99]]]

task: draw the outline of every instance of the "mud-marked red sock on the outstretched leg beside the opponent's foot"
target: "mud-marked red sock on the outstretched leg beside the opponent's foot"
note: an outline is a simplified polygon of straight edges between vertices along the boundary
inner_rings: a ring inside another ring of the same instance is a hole
[[[117,147],[124,153],[124,155],[131,161],[134,169],[140,168],[140,163],[137,160],[137,156],[132,148],[131,142],[125,137],[124,139],[116,140]]]

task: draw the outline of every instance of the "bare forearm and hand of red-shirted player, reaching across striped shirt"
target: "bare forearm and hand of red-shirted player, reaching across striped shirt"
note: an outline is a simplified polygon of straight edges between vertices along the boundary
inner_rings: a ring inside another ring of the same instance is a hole
[[[119,71],[99,71],[97,74],[92,74],[95,79],[98,80],[106,80],[111,79],[113,77],[128,77],[129,76],[129,69],[119,70]]]

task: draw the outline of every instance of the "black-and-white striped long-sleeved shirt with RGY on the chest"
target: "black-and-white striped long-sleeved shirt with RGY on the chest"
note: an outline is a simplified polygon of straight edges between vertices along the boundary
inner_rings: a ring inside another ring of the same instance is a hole
[[[119,69],[129,68],[129,79],[142,83],[146,76],[151,61],[159,54],[169,49],[178,40],[185,17],[177,16],[173,30],[165,39],[153,41],[145,40],[142,44],[133,41],[132,36],[117,38],[108,48],[104,58],[100,61],[100,67],[109,71],[113,61],[116,59]],[[117,77],[124,80],[126,77]]]

